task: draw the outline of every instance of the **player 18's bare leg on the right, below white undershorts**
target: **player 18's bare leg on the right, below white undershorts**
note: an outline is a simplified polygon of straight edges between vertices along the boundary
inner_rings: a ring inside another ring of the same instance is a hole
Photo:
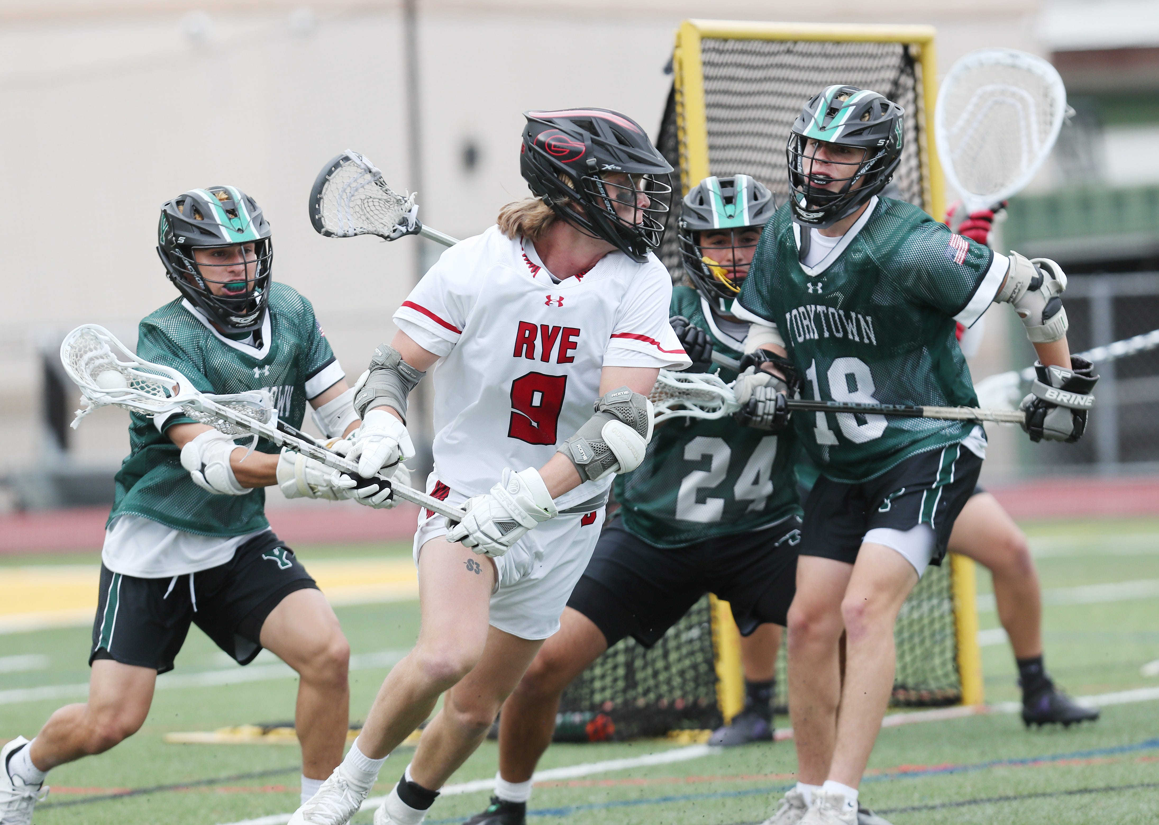
[[[883,545],[861,545],[841,600],[845,684],[826,779],[851,788],[861,782],[894,689],[894,623],[917,583],[917,571],[901,553]]]

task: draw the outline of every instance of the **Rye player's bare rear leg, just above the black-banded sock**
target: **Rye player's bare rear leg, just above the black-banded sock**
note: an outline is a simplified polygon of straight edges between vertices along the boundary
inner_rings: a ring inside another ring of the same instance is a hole
[[[442,710],[423,731],[410,762],[415,782],[442,788],[475,752],[542,643],[489,629],[479,664],[447,691]]]

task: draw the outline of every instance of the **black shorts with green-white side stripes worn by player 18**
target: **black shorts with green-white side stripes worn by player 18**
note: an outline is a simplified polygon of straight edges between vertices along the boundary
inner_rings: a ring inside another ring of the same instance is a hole
[[[801,555],[852,564],[868,531],[928,524],[935,536],[930,563],[941,564],[954,519],[975,494],[981,472],[982,459],[952,444],[911,455],[860,484],[821,476],[804,503]]]

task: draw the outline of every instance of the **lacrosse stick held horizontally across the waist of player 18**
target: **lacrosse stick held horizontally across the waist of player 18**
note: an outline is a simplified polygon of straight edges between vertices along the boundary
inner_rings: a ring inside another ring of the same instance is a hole
[[[661,370],[651,392],[654,421],[685,416],[690,418],[723,418],[741,409],[732,388],[713,374],[685,375]],[[903,418],[939,418],[941,421],[994,421],[1021,424],[1021,410],[982,409],[977,407],[914,407],[912,404],[862,404],[850,401],[807,401],[789,399],[788,409],[802,413],[853,413],[858,415],[888,415]]]

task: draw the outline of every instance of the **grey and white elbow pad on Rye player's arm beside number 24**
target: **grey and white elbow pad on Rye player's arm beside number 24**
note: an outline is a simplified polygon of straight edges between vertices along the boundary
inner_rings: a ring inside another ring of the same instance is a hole
[[[583,481],[630,473],[644,460],[653,431],[653,403],[627,387],[596,402],[596,415],[563,443],[559,452],[575,465]]]

